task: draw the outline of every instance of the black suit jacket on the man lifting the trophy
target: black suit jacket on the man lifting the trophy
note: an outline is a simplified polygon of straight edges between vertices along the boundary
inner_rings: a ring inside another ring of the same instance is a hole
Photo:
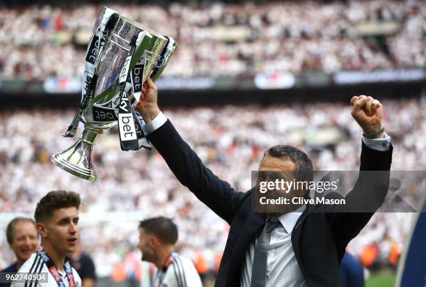
[[[246,250],[260,233],[265,219],[251,211],[251,195],[236,192],[229,183],[207,169],[200,158],[180,137],[170,121],[148,135],[150,142],[175,174],[176,178],[193,192],[200,201],[230,224],[228,240],[216,286],[239,286]],[[389,171],[392,146],[386,152],[372,150],[363,144],[361,170]],[[385,174],[374,199],[371,188],[363,187],[358,178],[358,188],[346,196],[353,207],[366,201],[375,202],[376,209],[383,203],[387,192],[388,174]],[[365,187],[365,186],[364,186]],[[370,196],[370,197],[369,197]],[[368,223],[374,210],[368,213],[312,212],[315,206],[307,205],[292,231],[292,246],[301,273],[308,286],[340,286],[339,264],[347,243]]]

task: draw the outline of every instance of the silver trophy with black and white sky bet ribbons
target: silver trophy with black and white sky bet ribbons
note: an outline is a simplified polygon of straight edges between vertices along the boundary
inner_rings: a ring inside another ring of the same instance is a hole
[[[95,180],[95,140],[117,123],[123,150],[150,149],[141,129],[145,123],[134,107],[143,82],[159,78],[177,47],[173,38],[102,7],[86,53],[79,109],[64,136],[74,137],[80,122],[84,131],[70,148],[52,155],[52,162],[74,176]]]

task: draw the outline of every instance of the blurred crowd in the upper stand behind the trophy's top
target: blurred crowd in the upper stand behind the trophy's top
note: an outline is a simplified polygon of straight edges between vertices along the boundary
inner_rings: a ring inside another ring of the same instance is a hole
[[[86,47],[74,45],[70,35],[91,33],[99,8],[1,9],[0,78],[81,77]],[[178,41],[165,74],[171,77],[426,65],[426,6],[420,0],[110,8]],[[358,25],[372,22],[393,22],[397,29],[384,37],[362,37]]]

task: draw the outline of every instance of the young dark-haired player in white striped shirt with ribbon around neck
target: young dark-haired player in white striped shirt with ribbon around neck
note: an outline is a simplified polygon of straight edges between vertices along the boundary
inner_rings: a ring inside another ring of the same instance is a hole
[[[19,272],[47,274],[47,282],[26,281],[12,286],[81,287],[79,274],[68,256],[78,240],[80,196],[75,192],[49,192],[37,203],[34,217],[42,249],[33,253]]]

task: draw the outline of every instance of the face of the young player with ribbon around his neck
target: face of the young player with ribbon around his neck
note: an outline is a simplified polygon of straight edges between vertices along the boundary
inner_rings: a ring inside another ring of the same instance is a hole
[[[58,254],[68,256],[77,249],[79,211],[61,208],[53,212],[46,224],[47,238]]]

